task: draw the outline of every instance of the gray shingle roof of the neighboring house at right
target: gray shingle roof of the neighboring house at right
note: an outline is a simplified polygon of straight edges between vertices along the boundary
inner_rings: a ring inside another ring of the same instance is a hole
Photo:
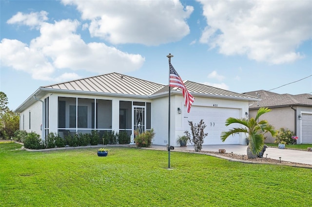
[[[259,107],[286,107],[286,106],[309,106],[312,107],[312,94],[276,94],[273,92],[259,90],[244,93],[258,96],[261,101],[254,102],[250,109]]]

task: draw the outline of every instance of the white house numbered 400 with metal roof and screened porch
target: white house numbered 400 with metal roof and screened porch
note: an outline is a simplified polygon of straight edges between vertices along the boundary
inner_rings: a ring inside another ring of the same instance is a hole
[[[245,134],[222,143],[220,133],[228,130],[228,117],[245,117],[248,103],[260,99],[192,81],[184,83],[195,102],[187,113],[181,90],[171,89],[171,145],[176,146],[178,136],[190,130],[188,121],[198,123],[200,119],[207,125],[205,145],[246,143]],[[135,130],[153,128],[153,144],[167,145],[168,90],[168,85],[111,73],[40,87],[16,112],[20,113],[20,130],[37,132],[43,139],[49,132],[64,137],[68,132],[92,130],[126,131],[133,137]]]

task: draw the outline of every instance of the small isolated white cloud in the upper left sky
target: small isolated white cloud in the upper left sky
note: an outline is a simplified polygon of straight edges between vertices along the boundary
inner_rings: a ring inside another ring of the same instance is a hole
[[[22,12],[18,12],[12,18],[6,21],[8,24],[21,24],[30,27],[37,27],[42,22],[48,20],[48,13],[46,11],[41,12],[31,12],[30,14],[23,14]]]

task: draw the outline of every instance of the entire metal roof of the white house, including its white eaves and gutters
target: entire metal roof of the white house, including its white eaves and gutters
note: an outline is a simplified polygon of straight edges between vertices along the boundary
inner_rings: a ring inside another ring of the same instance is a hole
[[[260,100],[259,98],[248,94],[239,94],[187,80],[183,82],[189,92],[194,96],[239,99],[248,101]],[[127,96],[154,99],[168,94],[168,85],[166,86],[118,73],[98,75],[39,87],[39,89],[34,94],[29,96],[15,111],[21,112],[29,105],[36,102],[34,96],[40,99],[44,95],[53,92],[71,94],[106,94],[110,96]],[[171,88],[171,93],[180,94],[181,90],[176,87]]]

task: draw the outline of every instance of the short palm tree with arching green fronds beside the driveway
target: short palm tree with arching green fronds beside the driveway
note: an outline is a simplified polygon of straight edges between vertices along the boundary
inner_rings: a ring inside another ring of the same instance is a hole
[[[221,132],[221,140],[224,142],[231,134],[238,132],[248,133],[249,145],[247,147],[248,158],[255,158],[256,155],[262,150],[264,145],[264,134],[270,132],[272,136],[275,136],[276,132],[274,127],[269,124],[267,120],[258,121],[259,117],[267,112],[270,112],[271,109],[261,107],[255,118],[233,118],[229,117],[225,121],[225,126],[230,124],[238,123],[245,127],[242,128],[233,128],[227,132]]]

